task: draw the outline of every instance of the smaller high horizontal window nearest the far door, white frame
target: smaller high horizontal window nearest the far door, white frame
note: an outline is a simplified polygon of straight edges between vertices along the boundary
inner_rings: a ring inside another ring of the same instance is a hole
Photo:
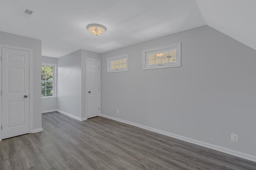
[[[107,72],[128,71],[128,55],[124,54],[116,57],[107,58],[107,64]]]

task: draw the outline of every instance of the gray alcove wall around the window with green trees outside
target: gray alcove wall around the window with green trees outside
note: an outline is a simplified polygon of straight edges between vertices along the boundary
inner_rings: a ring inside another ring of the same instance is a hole
[[[42,63],[48,64],[58,64],[58,59],[53,57],[42,56]],[[58,82],[58,67],[56,67],[56,83]],[[57,88],[55,91],[57,96]],[[42,113],[56,110],[58,108],[58,99],[57,98],[42,98]]]

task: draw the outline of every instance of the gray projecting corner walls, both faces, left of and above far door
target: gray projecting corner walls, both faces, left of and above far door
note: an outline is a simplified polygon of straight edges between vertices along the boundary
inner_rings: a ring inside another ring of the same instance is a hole
[[[80,49],[58,58],[58,109],[86,118],[86,58],[100,60],[100,54]]]

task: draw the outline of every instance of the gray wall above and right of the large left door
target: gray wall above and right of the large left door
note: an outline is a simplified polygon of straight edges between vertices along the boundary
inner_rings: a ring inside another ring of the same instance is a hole
[[[0,44],[33,50],[33,129],[42,128],[41,116],[41,40],[0,31]]]

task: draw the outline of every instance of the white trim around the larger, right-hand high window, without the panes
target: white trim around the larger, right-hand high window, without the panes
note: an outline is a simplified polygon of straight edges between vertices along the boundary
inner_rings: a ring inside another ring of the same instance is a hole
[[[170,44],[170,45],[164,45],[164,46],[161,46],[161,47],[156,47],[156,48],[152,48],[152,49],[143,50],[142,70],[180,67],[181,66],[181,49],[180,49],[180,47],[181,47],[181,43],[179,42],[179,43],[173,43],[173,44]],[[164,49],[169,49],[169,48],[176,49],[176,62],[175,63],[147,66],[146,53],[151,53],[151,52],[154,53],[154,51],[164,50]]]

